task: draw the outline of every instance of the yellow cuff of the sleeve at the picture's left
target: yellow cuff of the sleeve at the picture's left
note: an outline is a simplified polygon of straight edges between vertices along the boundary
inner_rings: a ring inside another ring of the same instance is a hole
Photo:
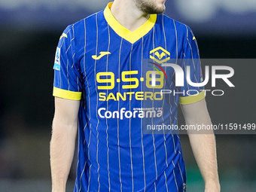
[[[81,100],[82,93],[71,91],[71,90],[62,90],[57,87],[53,87],[53,96],[56,96],[62,99],[79,101]]]

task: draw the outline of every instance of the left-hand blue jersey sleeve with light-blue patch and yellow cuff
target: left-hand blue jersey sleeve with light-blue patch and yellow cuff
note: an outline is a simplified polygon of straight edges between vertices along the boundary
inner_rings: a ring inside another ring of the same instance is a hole
[[[53,96],[63,99],[81,99],[81,73],[75,59],[75,35],[68,26],[59,38],[54,59]]]

